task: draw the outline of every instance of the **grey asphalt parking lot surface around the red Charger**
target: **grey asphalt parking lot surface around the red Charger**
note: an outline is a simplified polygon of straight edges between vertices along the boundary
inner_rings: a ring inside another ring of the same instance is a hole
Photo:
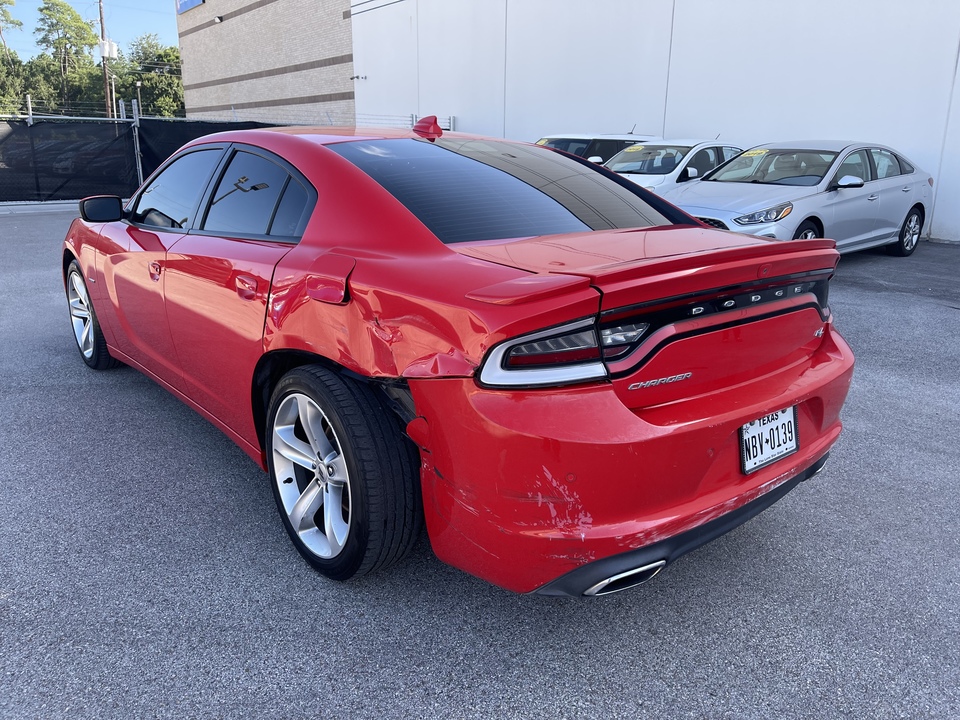
[[[0,717],[960,716],[960,245],[841,260],[857,369],[818,478],[578,601],[425,537],[360,581],[311,571],[239,448],[82,363],[72,215],[0,211]]]

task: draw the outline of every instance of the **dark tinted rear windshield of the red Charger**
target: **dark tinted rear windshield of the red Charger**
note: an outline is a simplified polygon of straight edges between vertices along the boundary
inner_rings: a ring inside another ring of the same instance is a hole
[[[533,145],[404,138],[327,147],[448,244],[692,223],[633,183]]]

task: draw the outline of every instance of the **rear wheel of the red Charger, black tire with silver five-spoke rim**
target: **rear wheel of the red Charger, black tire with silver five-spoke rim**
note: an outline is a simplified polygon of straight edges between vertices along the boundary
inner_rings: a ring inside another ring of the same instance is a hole
[[[315,365],[290,371],[265,441],[284,527],[322,575],[348,580],[410,552],[423,527],[419,451],[370,387]]]

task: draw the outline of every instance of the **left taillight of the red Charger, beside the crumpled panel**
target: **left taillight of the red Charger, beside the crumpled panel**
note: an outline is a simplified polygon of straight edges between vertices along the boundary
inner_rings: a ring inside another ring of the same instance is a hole
[[[600,342],[593,318],[513,338],[490,351],[480,382],[536,387],[605,378]]]

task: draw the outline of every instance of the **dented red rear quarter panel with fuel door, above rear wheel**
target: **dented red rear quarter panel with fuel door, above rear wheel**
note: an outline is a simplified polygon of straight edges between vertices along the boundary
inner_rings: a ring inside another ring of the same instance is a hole
[[[318,160],[317,207],[274,272],[266,352],[301,350],[368,377],[464,377],[500,340],[597,313],[586,283],[519,304],[468,299],[532,274],[454,252],[351,163],[326,149]]]

